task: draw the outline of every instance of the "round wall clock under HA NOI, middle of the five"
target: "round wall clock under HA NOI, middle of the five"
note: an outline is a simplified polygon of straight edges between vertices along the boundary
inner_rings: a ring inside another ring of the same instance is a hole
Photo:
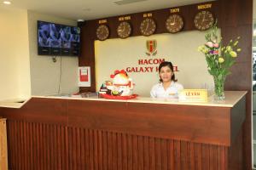
[[[156,25],[153,19],[145,19],[141,23],[140,31],[143,34],[143,36],[150,36],[154,34],[154,31],[156,29]]]

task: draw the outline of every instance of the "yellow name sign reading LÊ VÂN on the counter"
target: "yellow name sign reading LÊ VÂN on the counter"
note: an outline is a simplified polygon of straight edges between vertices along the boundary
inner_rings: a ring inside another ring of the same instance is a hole
[[[207,102],[207,89],[183,89],[178,94],[180,102]]]

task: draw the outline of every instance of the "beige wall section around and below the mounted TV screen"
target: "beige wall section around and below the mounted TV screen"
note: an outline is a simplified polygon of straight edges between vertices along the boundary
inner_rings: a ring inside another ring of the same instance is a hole
[[[27,13],[32,95],[58,94],[61,71],[60,94],[71,94],[79,91],[77,80],[79,58],[62,56],[61,70],[61,58],[57,57],[57,62],[54,63],[50,56],[38,55],[37,42],[37,20],[49,21],[67,26],[76,26],[76,21],[48,14],[40,14],[30,10],[28,10]]]

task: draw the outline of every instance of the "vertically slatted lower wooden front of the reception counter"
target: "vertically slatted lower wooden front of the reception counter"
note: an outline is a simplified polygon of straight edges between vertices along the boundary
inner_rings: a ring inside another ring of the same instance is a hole
[[[8,122],[9,168],[90,170],[218,170],[224,146],[81,127]]]

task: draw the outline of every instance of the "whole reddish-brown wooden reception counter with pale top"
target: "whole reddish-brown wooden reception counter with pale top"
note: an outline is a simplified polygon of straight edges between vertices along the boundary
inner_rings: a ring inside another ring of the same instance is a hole
[[[224,102],[32,97],[7,118],[11,169],[241,169],[247,92]],[[9,106],[10,107],[10,106]]]

